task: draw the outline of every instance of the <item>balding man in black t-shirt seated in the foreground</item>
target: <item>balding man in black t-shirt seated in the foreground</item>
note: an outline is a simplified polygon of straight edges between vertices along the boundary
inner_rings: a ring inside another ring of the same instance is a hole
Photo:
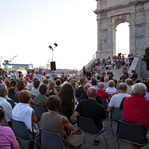
[[[93,119],[97,128],[103,128],[102,121],[106,118],[105,110],[102,105],[96,102],[97,91],[94,87],[90,87],[87,91],[89,99],[82,100],[74,113],[74,117],[83,116]],[[99,135],[95,137],[95,145],[99,144]]]

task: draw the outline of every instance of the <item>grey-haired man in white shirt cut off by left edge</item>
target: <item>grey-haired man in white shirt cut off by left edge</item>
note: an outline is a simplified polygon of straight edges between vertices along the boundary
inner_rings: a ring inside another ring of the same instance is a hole
[[[5,119],[11,125],[12,119],[12,107],[9,102],[5,99],[6,95],[8,94],[7,86],[3,83],[0,84],[0,105],[5,110]]]

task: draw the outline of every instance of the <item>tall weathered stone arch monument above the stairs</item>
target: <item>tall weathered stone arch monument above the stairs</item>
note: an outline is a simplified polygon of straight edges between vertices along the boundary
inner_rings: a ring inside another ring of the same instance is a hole
[[[144,55],[149,47],[149,0],[96,0],[97,58],[116,54],[116,27],[128,22],[130,53]]]

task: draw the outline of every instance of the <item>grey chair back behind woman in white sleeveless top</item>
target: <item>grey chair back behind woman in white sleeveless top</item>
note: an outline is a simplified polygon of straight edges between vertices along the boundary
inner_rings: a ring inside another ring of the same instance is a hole
[[[12,128],[16,137],[23,140],[32,140],[24,122],[12,120]]]

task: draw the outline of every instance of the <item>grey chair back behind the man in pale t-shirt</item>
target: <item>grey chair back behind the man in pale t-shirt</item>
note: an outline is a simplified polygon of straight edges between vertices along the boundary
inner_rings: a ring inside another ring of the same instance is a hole
[[[122,110],[113,107],[111,111],[111,119],[116,122],[118,122],[118,120],[122,120]]]

